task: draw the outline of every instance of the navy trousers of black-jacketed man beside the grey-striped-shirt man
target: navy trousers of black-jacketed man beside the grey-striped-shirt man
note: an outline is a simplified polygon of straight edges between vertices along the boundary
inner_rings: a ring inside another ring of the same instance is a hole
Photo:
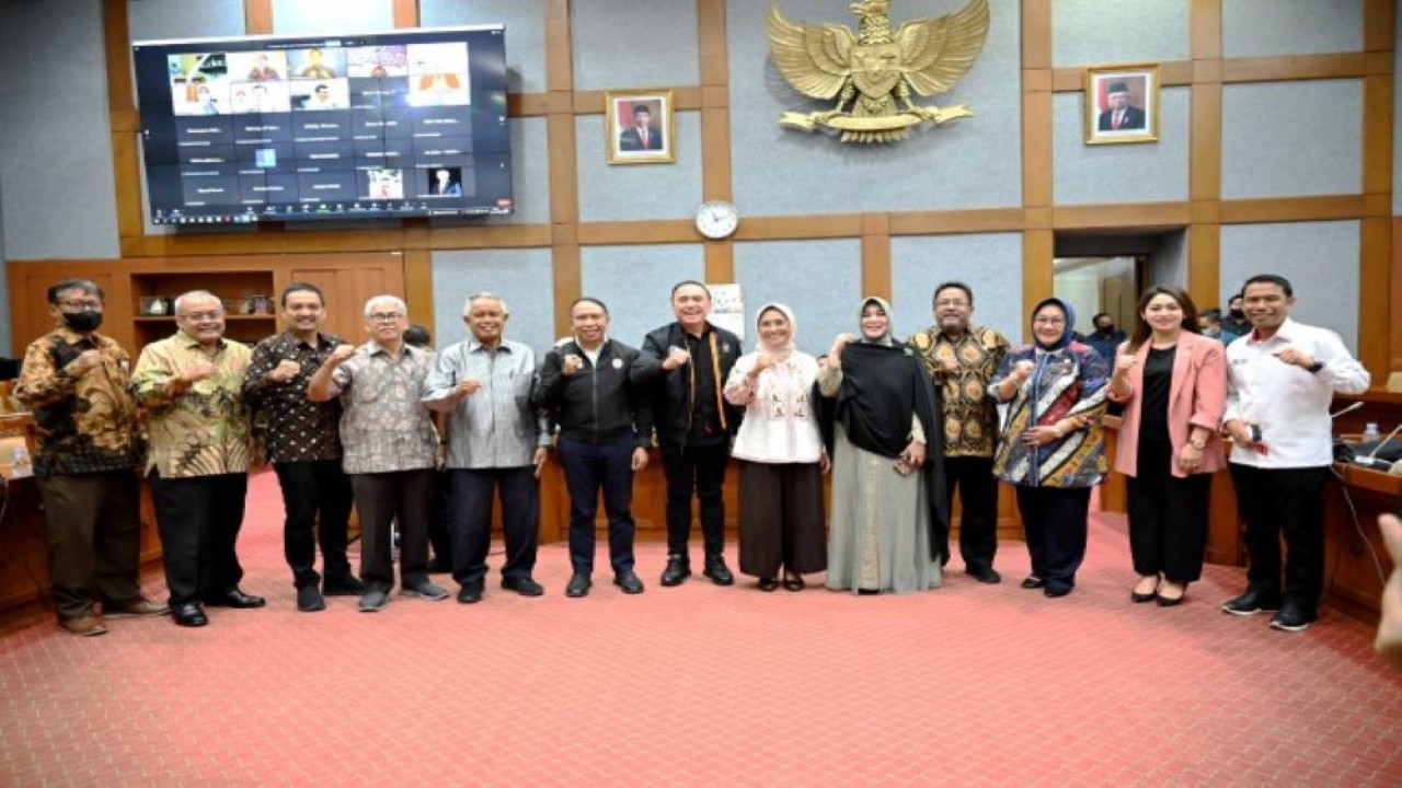
[[[610,443],[559,439],[559,463],[569,489],[569,564],[575,572],[594,569],[594,519],[599,494],[608,517],[608,564],[614,573],[634,566],[632,540],[632,435]]]

